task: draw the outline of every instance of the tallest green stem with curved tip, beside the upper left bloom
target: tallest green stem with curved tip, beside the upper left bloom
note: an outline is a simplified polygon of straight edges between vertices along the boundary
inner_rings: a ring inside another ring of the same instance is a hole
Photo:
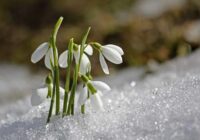
[[[63,17],[60,17],[55,25],[55,28],[53,30],[52,34],[52,47],[53,47],[53,57],[54,57],[54,78],[55,78],[55,88],[56,88],[56,115],[59,115],[60,111],[60,88],[59,88],[59,67],[58,67],[58,51],[56,47],[56,37],[58,30],[61,26],[61,23],[63,21]]]

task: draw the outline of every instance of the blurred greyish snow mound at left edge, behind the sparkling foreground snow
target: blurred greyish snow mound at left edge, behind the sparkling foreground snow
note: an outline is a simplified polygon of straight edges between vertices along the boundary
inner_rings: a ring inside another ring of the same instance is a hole
[[[30,90],[43,82],[41,75],[32,75],[24,66],[0,64],[0,104],[15,101],[30,94]]]

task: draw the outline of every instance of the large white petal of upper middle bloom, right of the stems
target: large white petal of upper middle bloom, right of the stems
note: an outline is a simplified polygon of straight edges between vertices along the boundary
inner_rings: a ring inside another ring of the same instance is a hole
[[[87,55],[83,54],[80,64],[80,73],[86,74],[88,71],[91,71],[91,63]]]

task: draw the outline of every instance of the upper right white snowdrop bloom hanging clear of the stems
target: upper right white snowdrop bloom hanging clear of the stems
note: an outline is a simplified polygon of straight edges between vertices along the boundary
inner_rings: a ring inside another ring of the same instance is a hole
[[[124,55],[124,51],[119,46],[113,44],[101,46],[99,60],[105,74],[109,74],[109,69],[104,57],[114,64],[121,64],[123,62],[122,55]]]

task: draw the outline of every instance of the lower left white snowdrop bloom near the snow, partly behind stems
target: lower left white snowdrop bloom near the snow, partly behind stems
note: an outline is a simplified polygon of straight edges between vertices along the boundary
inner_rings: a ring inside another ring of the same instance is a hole
[[[53,90],[53,85],[51,84],[51,89]],[[64,97],[65,90],[60,87],[60,95],[61,99]],[[36,90],[36,93],[31,95],[31,105],[37,106],[40,105],[47,97],[48,94],[48,87],[39,88]]]

